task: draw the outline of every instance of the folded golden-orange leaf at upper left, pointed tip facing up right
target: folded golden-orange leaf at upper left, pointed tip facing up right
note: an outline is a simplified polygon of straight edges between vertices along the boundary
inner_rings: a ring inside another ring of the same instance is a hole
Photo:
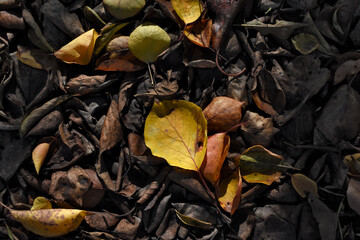
[[[60,48],[55,52],[55,56],[66,63],[87,65],[91,60],[98,36],[95,29],[91,29]]]

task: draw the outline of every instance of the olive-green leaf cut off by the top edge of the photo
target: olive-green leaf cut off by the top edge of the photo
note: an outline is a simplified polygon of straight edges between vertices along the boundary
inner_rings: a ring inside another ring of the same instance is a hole
[[[110,14],[121,20],[135,16],[145,6],[145,0],[103,0]]]

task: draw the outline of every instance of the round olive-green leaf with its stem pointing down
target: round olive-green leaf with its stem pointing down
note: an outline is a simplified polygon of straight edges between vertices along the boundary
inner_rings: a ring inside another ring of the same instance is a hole
[[[129,37],[130,51],[145,63],[154,62],[160,53],[170,47],[170,43],[169,35],[152,23],[141,24]]]

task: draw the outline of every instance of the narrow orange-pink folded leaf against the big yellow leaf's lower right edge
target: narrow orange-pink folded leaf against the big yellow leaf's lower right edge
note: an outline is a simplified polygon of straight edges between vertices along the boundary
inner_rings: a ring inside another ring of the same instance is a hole
[[[230,137],[226,133],[217,133],[208,138],[206,155],[200,172],[213,185],[219,180],[229,147]]]

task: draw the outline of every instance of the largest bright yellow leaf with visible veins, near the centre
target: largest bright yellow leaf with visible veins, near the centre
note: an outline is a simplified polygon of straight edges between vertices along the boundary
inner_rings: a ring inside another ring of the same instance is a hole
[[[207,146],[201,108],[183,100],[154,103],[145,122],[145,143],[171,166],[199,171]]]

